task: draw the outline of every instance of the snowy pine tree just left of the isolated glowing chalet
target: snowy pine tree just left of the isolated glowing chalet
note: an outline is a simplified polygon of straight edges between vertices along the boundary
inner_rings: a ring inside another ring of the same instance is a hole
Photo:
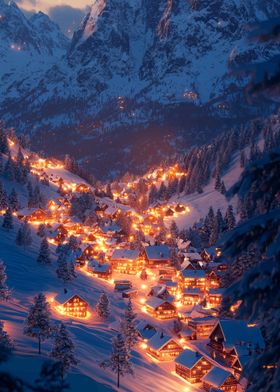
[[[24,334],[38,339],[38,352],[41,354],[41,342],[50,337],[52,327],[50,322],[49,303],[44,294],[34,297],[24,328]]]

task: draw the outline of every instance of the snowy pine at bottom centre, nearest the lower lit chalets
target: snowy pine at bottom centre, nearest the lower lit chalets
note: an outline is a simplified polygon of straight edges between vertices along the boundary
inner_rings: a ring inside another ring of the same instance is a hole
[[[133,374],[132,365],[129,362],[130,355],[122,334],[118,334],[112,340],[112,353],[108,360],[103,361],[100,367],[111,369],[117,374],[117,388],[120,387],[120,377]]]

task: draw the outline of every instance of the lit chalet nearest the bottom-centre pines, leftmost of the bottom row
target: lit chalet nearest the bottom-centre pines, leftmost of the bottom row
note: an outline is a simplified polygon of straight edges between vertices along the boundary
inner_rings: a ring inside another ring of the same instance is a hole
[[[147,352],[159,361],[172,361],[182,351],[182,347],[171,336],[162,332],[157,332],[147,342]]]

